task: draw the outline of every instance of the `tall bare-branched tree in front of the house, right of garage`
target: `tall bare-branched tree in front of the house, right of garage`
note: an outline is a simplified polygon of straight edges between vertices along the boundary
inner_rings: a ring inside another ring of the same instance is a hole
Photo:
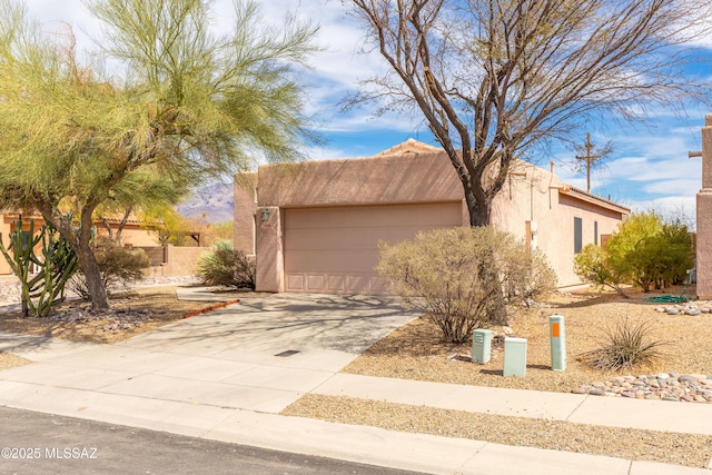
[[[462,181],[472,226],[515,157],[571,139],[592,116],[640,118],[653,103],[709,102],[685,76],[710,31],[700,0],[352,0],[383,76],[348,101],[421,112]]]

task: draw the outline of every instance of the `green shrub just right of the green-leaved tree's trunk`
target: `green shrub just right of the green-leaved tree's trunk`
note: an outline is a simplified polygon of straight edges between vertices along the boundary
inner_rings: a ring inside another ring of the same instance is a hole
[[[151,266],[144,249],[127,249],[111,239],[97,238],[92,245],[105,288],[127,287],[144,278],[144,270]],[[83,299],[89,299],[85,275],[77,273],[70,288]]]

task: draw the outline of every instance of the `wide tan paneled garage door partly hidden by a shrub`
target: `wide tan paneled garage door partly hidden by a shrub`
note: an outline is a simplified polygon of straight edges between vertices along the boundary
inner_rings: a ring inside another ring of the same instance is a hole
[[[462,225],[459,202],[285,209],[287,291],[384,294],[378,243]]]

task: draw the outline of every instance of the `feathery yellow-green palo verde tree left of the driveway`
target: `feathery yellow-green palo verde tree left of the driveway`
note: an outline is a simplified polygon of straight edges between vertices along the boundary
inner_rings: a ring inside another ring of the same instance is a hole
[[[107,308],[90,246],[97,207],[147,167],[196,185],[258,157],[295,159],[312,138],[296,68],[315,28],[287,18],[270,29],[243,1],[220,37],[208,0],[86,4],[103,23],[110,78],[78,61],[71,33],[48,34],[0,0],[0,209],[39,210],[79,256],[92,306]]]

